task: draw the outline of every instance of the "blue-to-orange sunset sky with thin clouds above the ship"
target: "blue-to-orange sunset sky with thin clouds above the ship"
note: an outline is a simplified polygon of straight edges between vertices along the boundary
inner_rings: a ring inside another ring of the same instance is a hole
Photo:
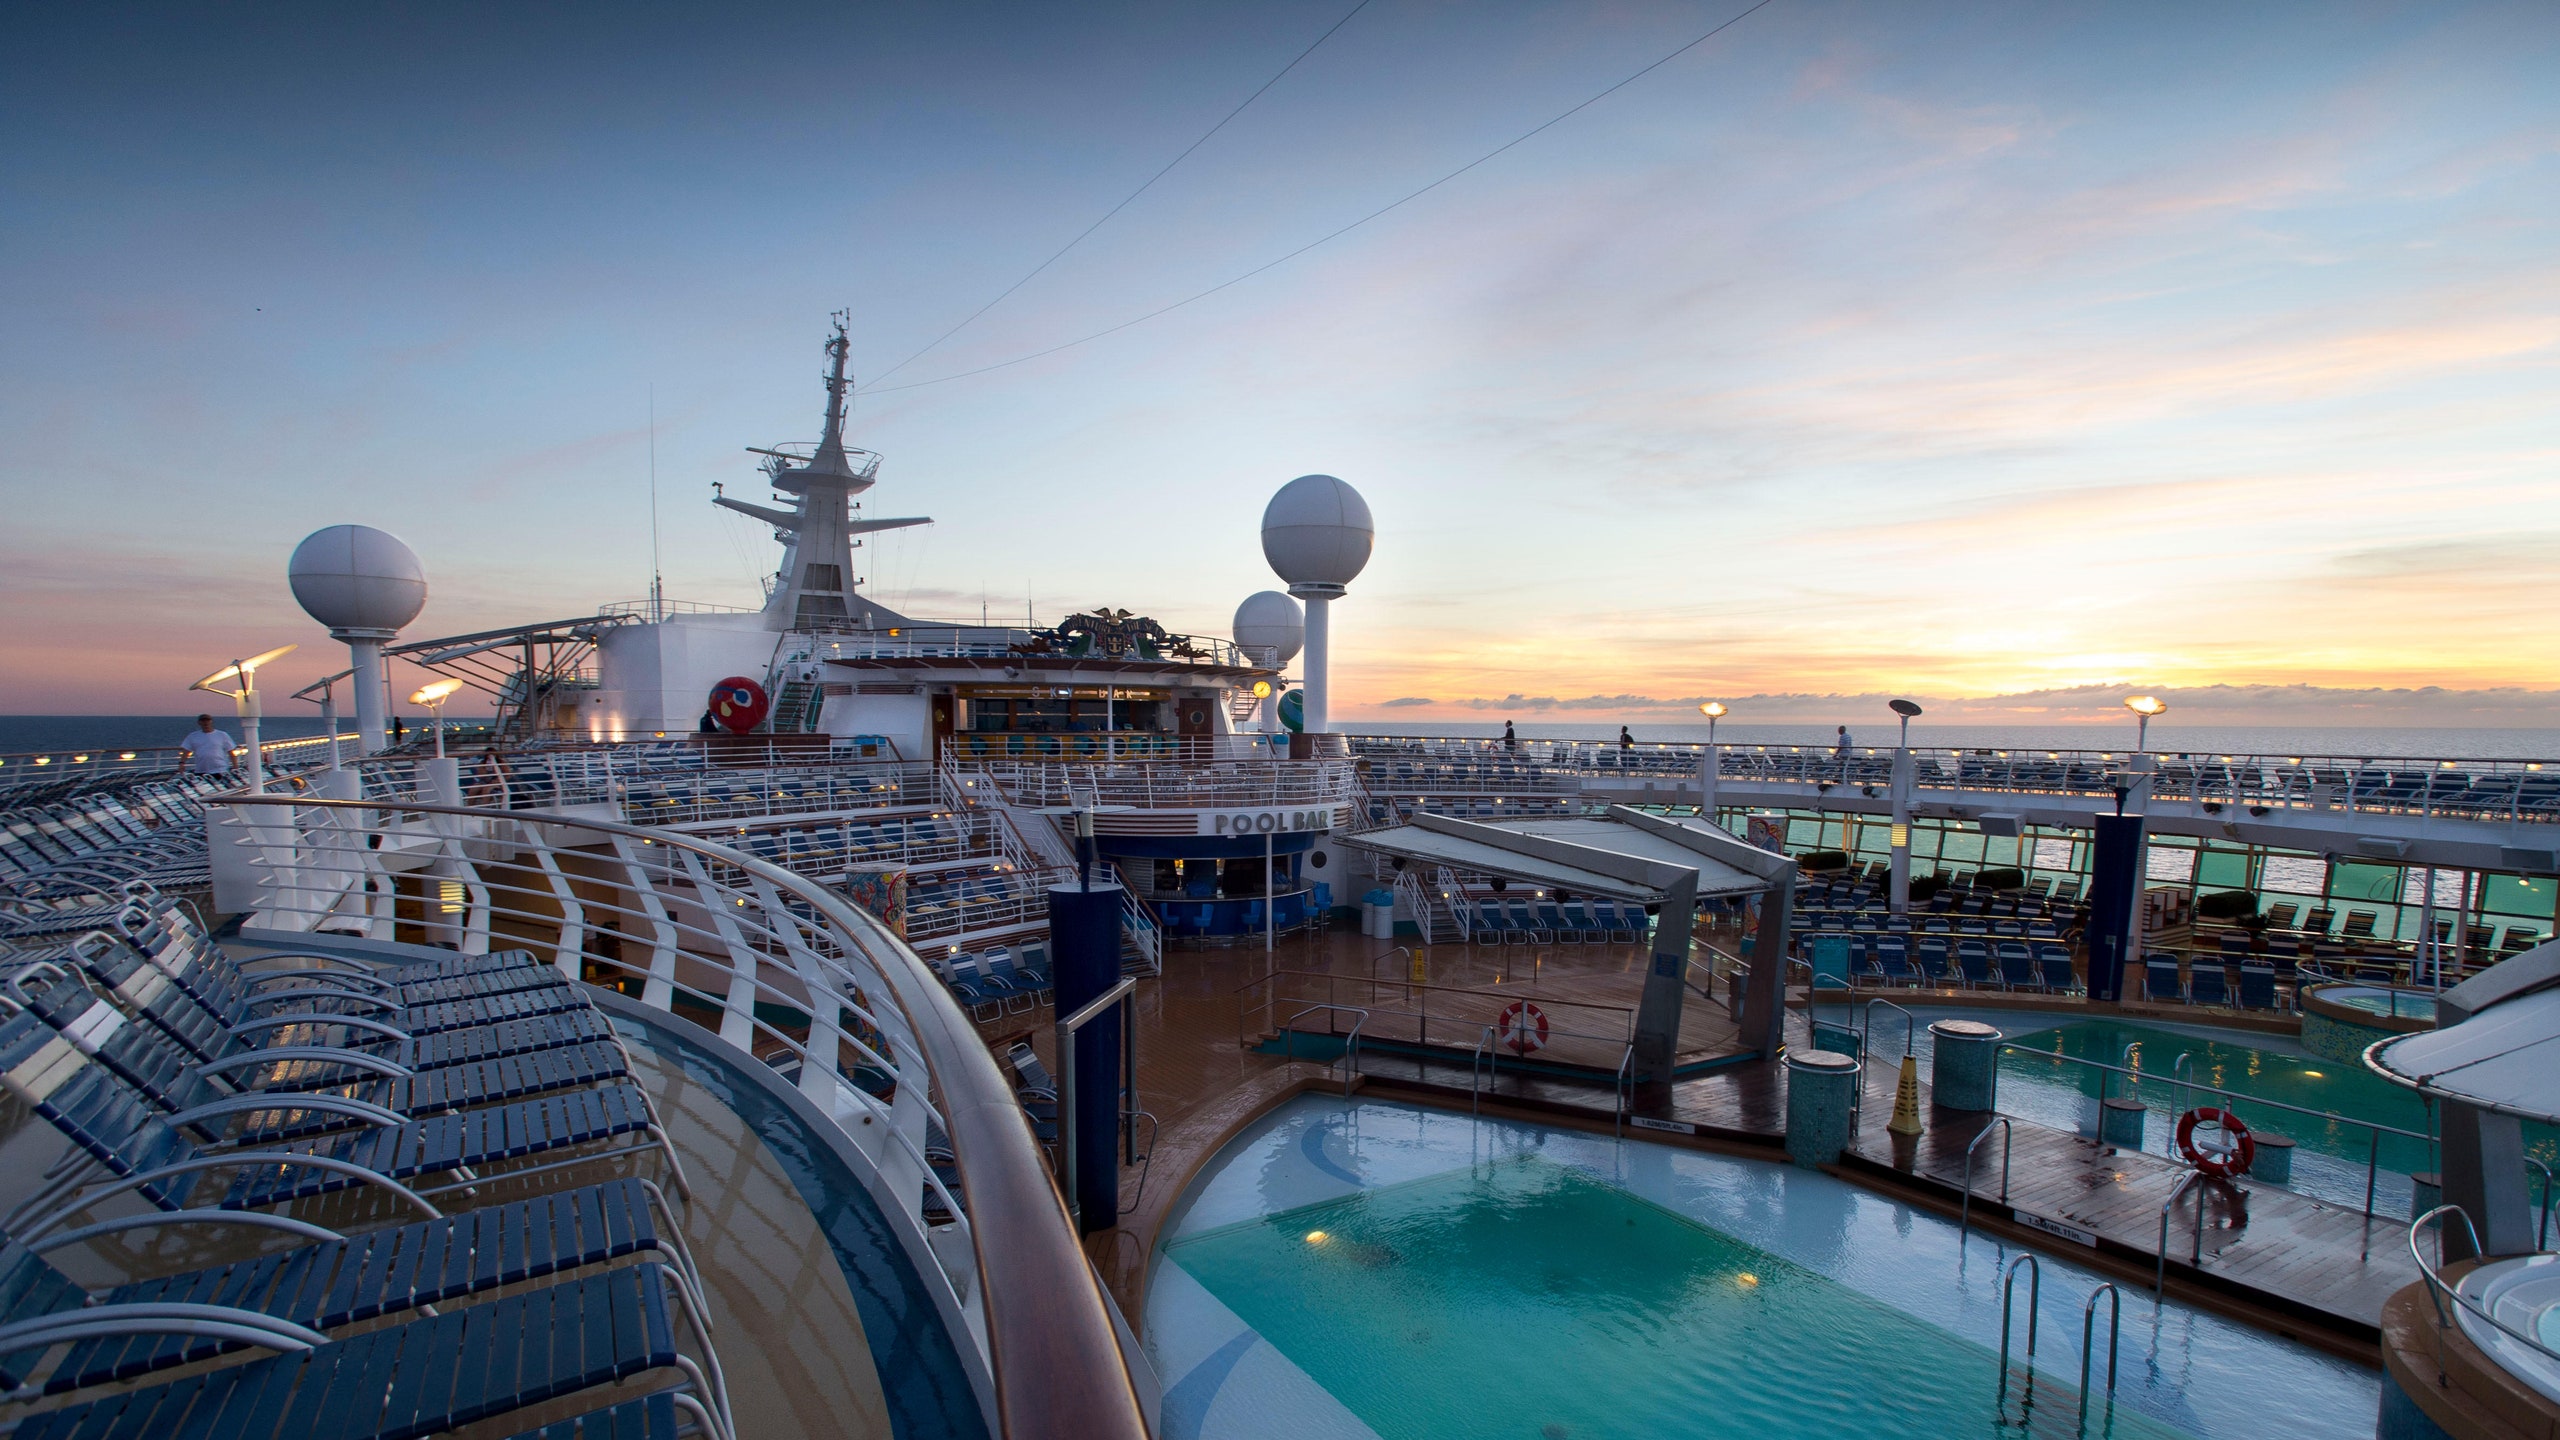
[[[425,556],[415,638],[640,597],[650,405],[668,594],[750,605],[712,482],[852,307],[911,612],[1219,633],[1329,471],[1344,717],[2560,725],[2547,3],[1774,0],[942,379],[1746,5],[1372,0],[893,374],[1352,0],[13,5],[0,712],[343,664],[330,523]]]

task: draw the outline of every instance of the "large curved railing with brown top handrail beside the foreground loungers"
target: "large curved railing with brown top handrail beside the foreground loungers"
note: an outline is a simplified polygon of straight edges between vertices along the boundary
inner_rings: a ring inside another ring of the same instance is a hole
[[[840,894],[694,835],[417,802],[233,797],[220,897],[259,933],[532,948],[691,1012],[870,1163],[1006,1437],[1144,1435],[1091,1263],[1011,1084],[932,969]],[[947,1145],[947,1148],[945,1148]]]

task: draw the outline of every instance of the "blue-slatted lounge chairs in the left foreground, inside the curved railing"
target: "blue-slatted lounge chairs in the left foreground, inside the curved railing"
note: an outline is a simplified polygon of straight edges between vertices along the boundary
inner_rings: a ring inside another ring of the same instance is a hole
[[[5,956],[0,1017],[0,1084],[69,1143],[0,1217],[15,1440],[410,1440],[579,1396],[545,1435],[735,1440],[701,1271],[643,1174],[689,1197],[684,1168],[556,966],[236,961],[133,904]],[[125,1197],[146,1209],[84,1220]],[[97,1291],[49,1258],[200,1225],[300,1243]]]

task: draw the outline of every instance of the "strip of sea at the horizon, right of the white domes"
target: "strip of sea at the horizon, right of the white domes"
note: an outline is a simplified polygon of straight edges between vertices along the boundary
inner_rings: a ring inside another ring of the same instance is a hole
[[[1421,720],[1344,723],[1352,735],[1500,735],[1503,723]],[[1695,746],[1705,725],[1628,725],[1638,740]],[[1618,725],[1518,723],[1523,740],[1615,740]],[[1900,730],[1879,717],[1851,725],[1853,746],[1892,746]],[[1838,740],[1833,725],[1718,725],[1725,746],[1820,746]],[[1984,751],[2130,751],[2132,725],[1912,725],[1912,746]],[[2353,756],[2353,758],[2468,758],[2560,761],[2560,730],[2455,730],[2455,728],[2324,728],[2324,725],[2153,725],[2158,753],[2199,756]]]

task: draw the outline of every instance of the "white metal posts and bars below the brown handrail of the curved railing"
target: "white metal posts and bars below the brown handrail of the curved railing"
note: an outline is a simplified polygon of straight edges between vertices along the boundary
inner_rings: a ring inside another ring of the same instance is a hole
[[[691,1010],[742,1056],[796,1068],[801,1094],[873,1166],[865,1184],[883,1209],[932,1258],[942,1299],[965,1320],[955,1335],[983,1343],[988,1248],[955,1191],[983,1158],[963,1143],[973,1125],[955,1109],[1009,1109],[1014,1097],[983,1048],[927,1053],[929,1035],[970,1035],[968,1020],[922,1015],[952,1002],[868,912],[691,835],[504,810],[236,797],[215,843],[253,856],[253,930],[463,953],[532,945],[573,979],[620,976],[643,1004]],[[425,920],[402,917],[420,907]],[[955,1176],[929,1161],[934,1130],[952,1138]],[[1019,1150],[983,1163],[1037,1166],[1027,1135]]]

